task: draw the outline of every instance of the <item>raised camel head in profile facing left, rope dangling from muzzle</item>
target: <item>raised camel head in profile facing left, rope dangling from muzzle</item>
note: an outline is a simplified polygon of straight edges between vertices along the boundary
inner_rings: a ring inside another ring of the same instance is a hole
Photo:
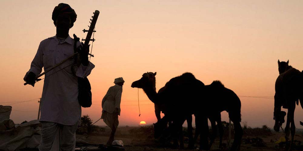
[[[132,83],[132,88],[154,88],[156,89],[157,72],[147,72],[142,75],[142,78]]]

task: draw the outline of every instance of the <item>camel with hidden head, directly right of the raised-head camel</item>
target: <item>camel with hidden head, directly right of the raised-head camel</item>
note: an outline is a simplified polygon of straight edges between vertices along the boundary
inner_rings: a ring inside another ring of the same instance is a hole
[[[207,122],[207,118],[211,121],[211,127],[215,133],[211,136],[211,142],[209,145],[209,148],[211,147],[212,143],[215,140],[216,137],[216,125],[215,122],[219,125],[219,134],[220,134],[220,145],[219,148],[221,148],[222,145],[222,135],[223,135],[223,127],[221,124],[221,112],[227,111],[229,118],[234,123],[235,127],[235,140],[234,143],[231,146],[230,150],[236,150],[240,149],[241,144],[241,138],[243,135],[243,130],[241,127],[241,101],[238,98],[238,96],[233,92],[232,90],[225,88],[224,85],[220,81],[214,81],[210,85],[206,85],[205,89],[203,89],[204,93],[204,99],[206,102],[204,103],[205,108],[200,109],[203,112],[196,112],[196,133],[194,138],[197,139],[198,135],[200,134],[200,140],[207,140],[207,135],[203,133],[204,135],[201,135],[200,130],[204,130],[204,132],[208,131],[208,125],[207,127],[204,127],[204,129],[201,129],[202,122]],[[202,117],[202,120],[201,118]],[[205,117],[206,121],[203,120]],[[163,129],[162,125],[162,129]],[[158,128],[159,130],[159,128]],[[160,129],[161,130],[161,129]],[[156,129],[155,129],[156,131]],[[201,143],[201,142],[200,142]],[[201,144],[200,144],[201,145]]]

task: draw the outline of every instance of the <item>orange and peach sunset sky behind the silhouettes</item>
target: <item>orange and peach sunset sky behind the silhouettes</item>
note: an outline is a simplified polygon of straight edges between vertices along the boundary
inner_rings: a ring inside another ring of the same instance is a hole
[[[24,86],[40,41],[55,35],[52,11],[64,2],[78,17],[69,34],[82,38],[95,10],[100,11],[88,79],[92,107],[82,108],[93,121],[101,117],[101,100],[114,79],[123,77],[119,125],[156,122],[154,105],[132,82],[157,72],[157,91],[184,72],[205,84],[221,80],[241,99],[242,122],[273,127],[273,97],[278,59],[303,69],[303,1],[2,1],[0,104],[11,105],[17,124],[37,119],[43,81]],[[27,101],[32,100],[33,101]],[[27,101],[27,102],[17,102]],[[16,104],[14,104],[16,103]],[[228,121],[226,112],[222,120]],[[295,124],[303,121],[296,107]],[[242,125],[244,124],[242,123]],[[105,125],[99,120],[96,125]],[[193,123],[193,125],[195,125]],[[283,125],[283,127],[285,124]]]

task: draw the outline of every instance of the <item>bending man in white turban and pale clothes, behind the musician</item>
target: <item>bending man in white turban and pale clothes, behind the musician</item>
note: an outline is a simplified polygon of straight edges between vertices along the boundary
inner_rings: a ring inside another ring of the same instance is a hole
[[[107,145],[112,145],[115,133],[119,124],[118,115],[120,115],[120,103],[122,95],[122,86],[124,80],[122,77],[116,78],[115,85],[110,87],[102,99],[102,115],[104,123],[112,129],[111,135],[108,139]]]

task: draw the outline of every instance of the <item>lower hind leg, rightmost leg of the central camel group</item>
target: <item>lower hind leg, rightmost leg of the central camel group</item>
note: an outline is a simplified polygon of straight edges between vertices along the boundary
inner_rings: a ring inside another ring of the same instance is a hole
[[[231,151],[240,150],[241,140],[243,136],[243,130],[239,121],[232,121],[235,128],[235,139],[231,145]]]

